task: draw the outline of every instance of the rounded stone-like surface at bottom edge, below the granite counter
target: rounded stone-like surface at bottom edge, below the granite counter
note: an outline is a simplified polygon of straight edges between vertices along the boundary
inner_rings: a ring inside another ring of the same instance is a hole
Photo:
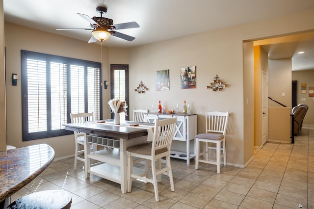
[[[72,197],[64,190],[34,192],[11,203],[6,209],[69,209]]]

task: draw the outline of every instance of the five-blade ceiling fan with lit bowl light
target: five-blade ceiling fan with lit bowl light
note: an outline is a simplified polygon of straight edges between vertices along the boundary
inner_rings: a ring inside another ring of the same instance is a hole
[[[56,30],[77,30],[77,29],[92,30],[93,36],[89,39],[88,43],[96,42],[97,40],[103,42],[104,40],[108,39],[110,35],[122,38],[127,41],[133,41],[135,39],[135,37],[117,32],[115,30],[139,27],[139,25],[136,22],[113,25],[112,19],[103,17],[103,14],[107,12],[107,7],[98,6],[96,8],[96,11],[100,13],[100,17],[90,18],[87,15],[78,13],[79,16],[81,16],[82,18],[89,22],[90,26],[88,28],[57,28]]]

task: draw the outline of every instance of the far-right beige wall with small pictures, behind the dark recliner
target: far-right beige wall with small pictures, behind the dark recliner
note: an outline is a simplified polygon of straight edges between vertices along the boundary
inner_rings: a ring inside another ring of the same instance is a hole
[[[314,70],[292,71],[292,80],[297,80],[297,104],[309,106],[303,124],[314,125],[314,97],[309,97],[309,87],[314,86]],[[306,83],[306,94],[301,94],[301,83]],[[305,101],[301,99],[305,98]]]

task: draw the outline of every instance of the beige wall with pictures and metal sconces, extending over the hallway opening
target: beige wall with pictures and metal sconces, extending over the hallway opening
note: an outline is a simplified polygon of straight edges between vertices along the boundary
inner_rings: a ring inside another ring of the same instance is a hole
[[[135,87],[140,77],[150,90],[143,95],[133,93],[132,96],[131,93],[130,109],[135,106],[151,108],[152,104],[157,105],[158,100],[171,109],[186,100],[198,114],[198,133],[205,131],[205,110],[228,110],[231,114],[227,133],[227,162],[245,165],[253,156],[254,127],[250,127],[254,124],[254,77],[253,72],[250,74],[245,69],[243,72],[246,56],[243,55],[243,40],[313,29],[314,23],[309,19],[313,16],[313,11],[305,12],[132,48],[130,87]],[[197,88],[181,90],[179,69],[191,65],[196,66]],[[169,69],[170,73],[170,90],[156,91],[156,71],[165,69]],[[211,92],[206,85],[216,74],[228,87],[220,92]],[[288,92],[286,95],[289,97]]]

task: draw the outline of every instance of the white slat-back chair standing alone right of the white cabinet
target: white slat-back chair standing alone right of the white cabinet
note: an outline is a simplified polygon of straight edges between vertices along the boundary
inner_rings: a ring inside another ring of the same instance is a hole
[[[217,174],[220,174],[220,160],[223,157],[226,162],[226,131],[228,126],[229,112],[206,111],[206,133],[195,136],[195,169],[198,169],[199,162],[217,165]],[[200,142],[205,142],[205,151],[201,152]],[[216,146],[209,146],[209,143]],[[222,145],[222,146],[221,146]],[[209,159],[209,150],[215,150],[216,160]],[[222,154],[221,154],[222,152]],[[206,154],[206,158],[200,158]]]

